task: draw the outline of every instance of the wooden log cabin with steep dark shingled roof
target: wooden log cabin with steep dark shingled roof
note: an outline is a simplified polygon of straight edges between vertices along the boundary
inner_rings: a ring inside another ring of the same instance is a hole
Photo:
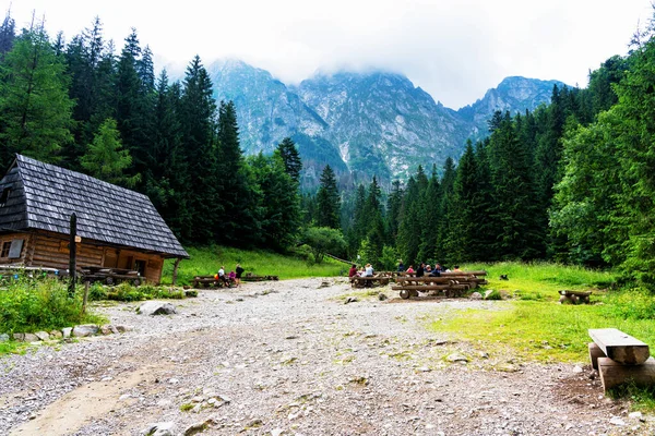
[[[0,180],[0,265],[68,269],[73,213],[79,269],[133,269],[158,283],[164,259],[189,258],[147,196],[16,155]]]

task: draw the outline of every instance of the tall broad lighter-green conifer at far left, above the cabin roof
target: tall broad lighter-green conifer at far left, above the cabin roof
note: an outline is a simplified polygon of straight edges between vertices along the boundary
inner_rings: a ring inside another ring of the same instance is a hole
[[[55,55],[41,26],[25,31],[0,65],[1,164],[15,153],[56,161],[72,141],[66,66]]]

